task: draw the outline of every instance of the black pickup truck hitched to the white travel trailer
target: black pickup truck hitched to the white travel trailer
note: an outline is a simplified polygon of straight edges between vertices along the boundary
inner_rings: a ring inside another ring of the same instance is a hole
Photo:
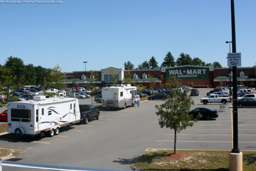
[[[79,104],[81,119],[80,122],[87,124],[89,119],[96,118],[99,120],[99,109],[92,104]]]

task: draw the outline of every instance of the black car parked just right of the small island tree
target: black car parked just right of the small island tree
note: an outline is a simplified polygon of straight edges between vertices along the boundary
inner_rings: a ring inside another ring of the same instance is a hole
[[[207,107],[197,107],[195,109],[189,110],[189,115],[193,115],[193,118],[198,116],[198,113],[202,115],[202,119],[211,120],[212,118],[218,118],[218,110],[212,110]]]

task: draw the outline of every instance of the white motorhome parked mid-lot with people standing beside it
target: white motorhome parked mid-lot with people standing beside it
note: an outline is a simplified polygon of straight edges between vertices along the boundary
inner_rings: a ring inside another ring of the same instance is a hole
[[[102,107],[126,108],[134,105],[137,87],[130,84],[102,88]]]

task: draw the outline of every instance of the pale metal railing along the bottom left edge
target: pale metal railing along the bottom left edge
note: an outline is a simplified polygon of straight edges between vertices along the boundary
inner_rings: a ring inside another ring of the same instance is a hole
[[[99,168],[79,168],[79,167],[58,166],[58,165],[39,165],[39,164],[9,162],[9,161],[0,162],[0,171],[3,171],[2,166],[18,167],[18,168],[35,168],[35,169],[55,170],[55,171],[124,171],[124,170],[110,170],[110,169],[99,169]]]

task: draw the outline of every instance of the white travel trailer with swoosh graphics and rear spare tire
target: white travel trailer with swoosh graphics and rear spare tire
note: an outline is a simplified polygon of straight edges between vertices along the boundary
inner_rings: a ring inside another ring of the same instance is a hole
[[[8,103],[8,133],[23,135],[58,135],[59,128],[80,121],[78,99],[46,98],[34,96],[34,100]]]

